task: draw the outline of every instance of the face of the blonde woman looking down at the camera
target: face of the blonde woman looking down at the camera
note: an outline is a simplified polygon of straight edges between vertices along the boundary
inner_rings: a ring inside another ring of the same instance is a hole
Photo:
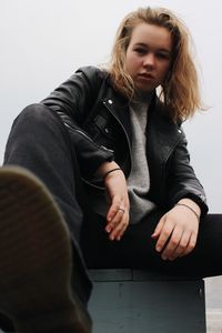
[[[135,88],[151,91],[163,83],[172,59],[172,38],[162,27],[139,23],[125,54],[125,69]]]

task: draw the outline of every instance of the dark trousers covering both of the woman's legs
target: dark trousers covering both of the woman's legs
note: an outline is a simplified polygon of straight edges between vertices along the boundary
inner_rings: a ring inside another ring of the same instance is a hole
[[[70,229],[77,268],[73,287],[84,303],[91,291],[85,266],[148,268],[192,279],[222,274],[221,215],[202,219],[194,251],[173,262],[160,258],[151,239],[162,211],[130,225],[120,242],[110,241],[104,232],[105,219],[95,215],[87,200],[74,143],[59,115],[46,105],[29,105],[16,119],[4,164],[29,169],[53,194]]]

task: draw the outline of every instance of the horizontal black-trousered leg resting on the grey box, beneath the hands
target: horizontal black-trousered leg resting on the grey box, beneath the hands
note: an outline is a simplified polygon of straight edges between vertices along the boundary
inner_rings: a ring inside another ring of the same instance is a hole
[[[163,212],[155,211],[141,223],[130,225],[120,242],[109,241],[104,232],[104,219],[95,220],[93,228],[87,226],[89,231],[84,233],[83,239],[83,253],[88,266],[155,269],[184,279],[222,274],[222,215],[209,214],[202,219],[194,251],[171,262],[161,259],[154,249],[155,241],[151,239],[162,214]],[[97,239],[97,244],[92,244],[93,239]]]

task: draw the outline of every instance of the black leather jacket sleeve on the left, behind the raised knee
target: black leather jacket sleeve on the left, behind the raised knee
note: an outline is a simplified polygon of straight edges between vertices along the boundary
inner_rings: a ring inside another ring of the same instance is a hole
[[[82,129],[97,100],[101,80],[99,69],[79,69],[41,101],[59,114],[68,129],[84,178],[91,178],[102,162],[113,160],[113,151],[97,144]]]

